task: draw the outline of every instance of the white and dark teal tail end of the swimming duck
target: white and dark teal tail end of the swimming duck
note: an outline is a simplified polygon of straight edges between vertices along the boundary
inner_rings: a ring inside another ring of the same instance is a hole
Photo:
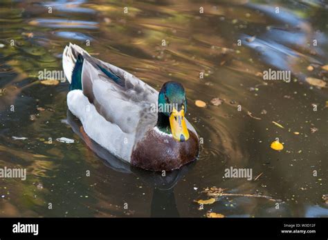
[[[81,72],[83,59],[88,52],[80,48],[78,45],[69,43],[63,52],[63,69],[66,79],[71,84],[71,88],[79,88],[81,84]],[[74,77],[73,77],[74,76]]]

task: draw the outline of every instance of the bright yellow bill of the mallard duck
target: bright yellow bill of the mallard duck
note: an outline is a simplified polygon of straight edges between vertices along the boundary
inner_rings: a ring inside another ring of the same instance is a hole
[[[178,141],[187,141],[189,132],[185,123],[185,110],[182,108],[179,112],[173,108],[170,116],[170,126],[173,138]]]

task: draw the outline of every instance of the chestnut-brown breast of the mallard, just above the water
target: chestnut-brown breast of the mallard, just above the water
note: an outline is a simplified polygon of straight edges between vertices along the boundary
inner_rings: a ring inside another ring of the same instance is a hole
[[[131,154],[131,164],[152,171],[170,171],[197,159],[198,138],[189,130],[188,141],[176,141],[172,137],[149,130],[136,144]]]

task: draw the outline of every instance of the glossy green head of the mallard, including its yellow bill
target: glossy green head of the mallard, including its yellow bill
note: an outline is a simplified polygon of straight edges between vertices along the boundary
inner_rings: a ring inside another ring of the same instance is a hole
[[[187,99],[183,86],[175,81],[167,81],[158,94],[158,129],[172,134],[176,141],[187,141],[189,132],[185,112]]]

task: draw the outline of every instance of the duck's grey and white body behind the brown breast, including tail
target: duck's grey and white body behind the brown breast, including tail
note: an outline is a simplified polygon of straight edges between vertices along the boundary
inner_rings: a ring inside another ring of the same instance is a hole
[[[63,68],[75,86],[67,95],[67,105],[86,134],[116,157],[130,161],[134,145],[156,125],[158,92],[76,45],[65,48]]]

